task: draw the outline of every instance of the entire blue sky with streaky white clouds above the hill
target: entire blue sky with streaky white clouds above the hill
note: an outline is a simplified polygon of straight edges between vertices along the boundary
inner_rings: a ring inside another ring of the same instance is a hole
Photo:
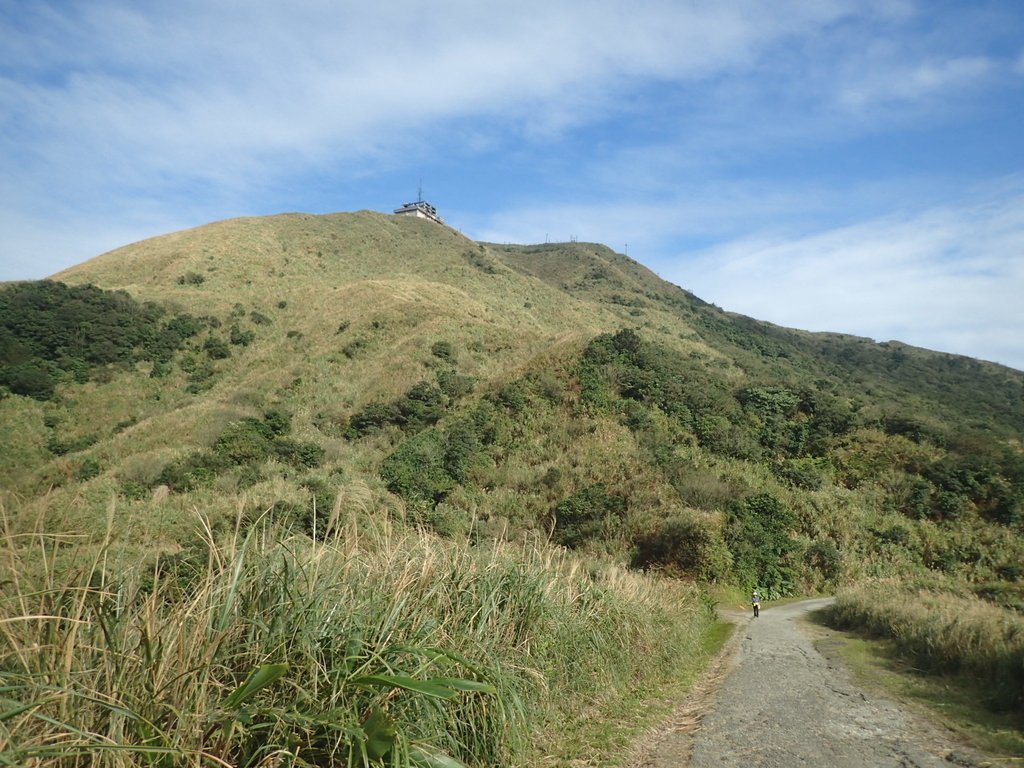
[[[0,3],[0,280],[421,179],[476,240],[1024,370],[1019,0]]]

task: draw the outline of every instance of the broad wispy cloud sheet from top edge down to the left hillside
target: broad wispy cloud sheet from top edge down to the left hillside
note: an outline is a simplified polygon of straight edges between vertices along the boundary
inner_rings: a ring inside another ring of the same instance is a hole
[[[126,229],[144,234],[154,206],[170,227],[258,211],[261,194],[326,163],[352,174],[557,142],[621,112],[642,83],[748,69],[852,12],[783,5],[252,2],[242,12],[97,0],[0,10],[0,201],[13,227],[0,262],[5,276],[29,276],[40,253],[55,268],[81,260]],[[51,217],[82,227],[77,248]],[[33,242],[31,252],[15,245]]]

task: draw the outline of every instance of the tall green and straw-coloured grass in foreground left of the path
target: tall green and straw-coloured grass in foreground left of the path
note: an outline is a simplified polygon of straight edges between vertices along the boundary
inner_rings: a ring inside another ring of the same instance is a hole
[[[200,518],[201,546],[119,573],[113,507],[79,568],[60,536],[7,532],[0,764],[535,764],[708,621],[686,588],[542,547],[341,508],[318,542],[242,520],[217,538]]]

